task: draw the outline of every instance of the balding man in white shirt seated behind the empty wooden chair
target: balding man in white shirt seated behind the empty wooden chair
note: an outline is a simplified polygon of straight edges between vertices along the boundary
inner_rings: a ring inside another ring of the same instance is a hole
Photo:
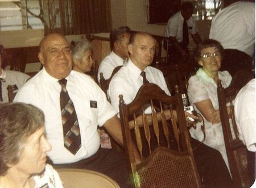
[[[170,95],[163,73],[150,66],[155,53],[154,38],[150,34],[136,32],[131,35],[128,48],[129,61],[114,75],[109,85],[112,105],[118,111],[118,95],[122,94],[125,103],[130,103],[145,82],[155,83]],[[193,148],[199,146],[193,153],[204,187],[231,187],[232,181],[221,154],[195,139],[191,139],[191,145]]]

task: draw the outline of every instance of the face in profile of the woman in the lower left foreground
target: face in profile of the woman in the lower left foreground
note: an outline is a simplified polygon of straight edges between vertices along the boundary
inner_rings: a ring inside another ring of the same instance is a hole
[[[46,168],[46,153],[50,150],[51,145],[46,140],[42,127],[25,140],[19,162],[11,168],[27,176],[41,173]]]

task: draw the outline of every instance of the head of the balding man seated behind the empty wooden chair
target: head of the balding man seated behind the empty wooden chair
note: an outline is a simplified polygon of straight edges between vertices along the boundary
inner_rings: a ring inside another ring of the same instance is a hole
[[[155,55],[155,40],[150,35],[137,34],[133,44],[129,44],[130,58],[139,69],[151,64]]]

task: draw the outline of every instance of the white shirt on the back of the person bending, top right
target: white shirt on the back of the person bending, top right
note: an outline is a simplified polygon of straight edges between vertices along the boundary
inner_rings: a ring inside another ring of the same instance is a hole
[[[218,11],[212,19],[209,39],[224,49],[238,49],[253,57],[255,50],[255,3],[236,2]]]

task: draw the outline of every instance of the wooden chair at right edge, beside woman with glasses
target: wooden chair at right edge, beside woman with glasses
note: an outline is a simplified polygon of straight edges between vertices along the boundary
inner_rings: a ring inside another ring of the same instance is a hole
[[[233,177],[234,187],[249,187],[250,181],[247,169],[247,149],[246,146],[239,140],[236,120],[234,117],[234,106],[232,101],[240,89],[253,78],[250,72],[240,70],[233,77],[230,86],[224,89],[221,81],[218,81],[218,104],[220,107],[220,118],[222,131],[224,135],[226,153],[230,166],[230,172]],[[227,104],[230,104],[230,116],[232,125],[229,123],[229,115]],[[231,126],[234,129],[235,137],[232,137]]]

